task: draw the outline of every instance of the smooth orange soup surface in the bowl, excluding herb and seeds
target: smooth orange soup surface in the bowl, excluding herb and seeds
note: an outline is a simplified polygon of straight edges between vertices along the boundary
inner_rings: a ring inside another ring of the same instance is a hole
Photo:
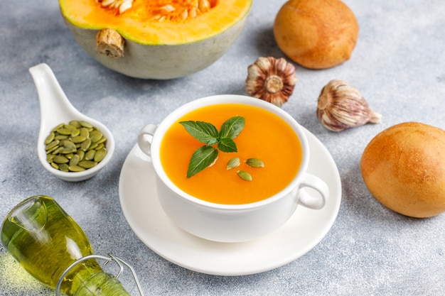
[[[234,141],[237,152],[218,151],[218,160],[209,168],[187,177],[188,163],[200,146],[179,124],[180,121],[205,121],[218,131],[233,116],[245,118],[245,126]],[[218,204],[248,204],[272,197],[294,179],[301,165],[301,144],[292,128],[279,116],[256,106],[219,104],[191,111],[178,119],[163,137],[161,164],[170,180],[193,197]],[[240,158],[237,168],[227,170],[227,163]],[[245,160],[258,158],[263,168],[250,168]],[[252,175],[242,180],[238,170]]]

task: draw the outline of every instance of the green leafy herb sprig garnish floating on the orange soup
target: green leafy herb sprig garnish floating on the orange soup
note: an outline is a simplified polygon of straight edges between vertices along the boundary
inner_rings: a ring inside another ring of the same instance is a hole
[[[205,146],[201,146],[193,153],[188,163],[187,177],[204,170],[218,158],[218,150],[223,152],[237,152],[236,138],[244,128],[245,119],[242,116],[234,116],[221,126],[220,131],[204,121],[181,121],[186,131]],[[213,147],[216,145],[216,148]]]

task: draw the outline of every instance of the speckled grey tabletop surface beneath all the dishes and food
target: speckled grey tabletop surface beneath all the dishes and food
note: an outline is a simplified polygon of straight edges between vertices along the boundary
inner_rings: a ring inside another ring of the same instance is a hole
[[[90,238],[95,253],[134,265],[146,295],[445,295],[445,214],[411,219],[368,192],[359,160],[370,139],[402,121],[445,127],[445,1],[345,0],[360,24],[351,59],[329,70],[296,66],[295,92],[283,107],[333,155],[343,199],[331,231],[309,253],[256,275],[196,273],[157,256],[124,219],[118,182],[139,129],[185,102],[245,94],[247,66],[282,57],[272,24],[284,0],[255,0],[245,31],[218,62],[177,80],[136,80],[92,60],[65,27],[55,0],[2,1],[0,9],[0,216],[35,194],[55,197]],[[47,63],[73,105],[102,121],[117,140],[100,175],[68,183],[43,170],[36,155],[40,116],[28,67]],[[314,114],[318,93],[343,79],[383,115],[382,124],[327,131]],[[271,250],[273,251],[273,250]],[[136,295],[131,277],[122,282]],[[53,295],[0,246],[0,295]]]

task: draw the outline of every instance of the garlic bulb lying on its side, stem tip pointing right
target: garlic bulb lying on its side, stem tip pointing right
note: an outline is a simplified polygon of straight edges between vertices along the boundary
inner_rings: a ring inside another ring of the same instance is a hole
[[[321,89],[317,117],[330,131],[378,124],[382,119],[381,114],[372,111],[360,92],[343,80],[331,80]]]

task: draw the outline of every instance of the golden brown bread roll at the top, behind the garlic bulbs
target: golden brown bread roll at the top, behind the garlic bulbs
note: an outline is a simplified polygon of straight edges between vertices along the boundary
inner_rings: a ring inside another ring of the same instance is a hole
[[[294,62],[326,69],[349,59],[358,38],[358,22],[340,0],[290,0],[277,13],[274,37]]]

